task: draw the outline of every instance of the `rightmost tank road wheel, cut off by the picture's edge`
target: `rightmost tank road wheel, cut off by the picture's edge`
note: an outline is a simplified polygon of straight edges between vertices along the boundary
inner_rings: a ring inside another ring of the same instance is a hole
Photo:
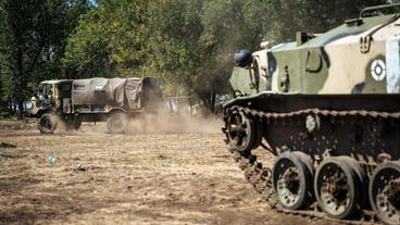
[[[370,202],[385,224],[400,224],[400,162],[384,162],[370,183]]]

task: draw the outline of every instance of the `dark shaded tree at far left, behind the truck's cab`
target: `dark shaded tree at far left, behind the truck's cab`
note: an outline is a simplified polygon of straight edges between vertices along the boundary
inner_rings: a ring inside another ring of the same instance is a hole
[[[5,0],[1,2],[2,20],[0,67],[2,92],[8,101],[23,102],[38,80],[61,74],[60,59],[66,35],[77,17],[86,12],[86,0]]]

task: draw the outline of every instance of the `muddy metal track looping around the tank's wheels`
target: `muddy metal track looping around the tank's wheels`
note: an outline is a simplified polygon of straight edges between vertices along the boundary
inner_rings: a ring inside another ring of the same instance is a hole
[[[229,112],[234,110],[243,112],[246,115],[250,115],[255,120],[273,120],[273,118],[290,118],[298,115],[323,115],[323,116],[365,116],[373,118],[400,118],[400,113],[388,113],[388,112],[376,112],[376,111],[329,111],[329,110],[318,110],[318,109],[308,109],[289,113],[274,113],[274,112],[261,112],[257,110],[252,110],[249,108],[234,105],[226,109],[224,114],[224,121],[227,121],[227,116]],[[226,143],[228,143],[228,135],[226,127],[223,128],[224,134],[226,135]],[[263,143],[261,146],[265,149]],[[253,186],[255,191],[260,193],[261,199],[266,201],[270,209],[276,210],[279,213],[299,215],[303,217],[310,218],[321,218],[327,220],[330,222],[342,223],[342,224],[354,224],[354,225],[366,225],[366,224],[376,224],[379,221],[376,221],[373,210],[362,210],[362,216],[358,221],[353,220],[336,220],[328,217],[324,212],[318,209],[315,204],[312,204],[308,210],[287,210],[284,209],[278,201],[276,200],[274,188],[272,185],[272,172],[270,168],[262,165],[261,162],[258,162],[257,155],[252,154],[251,151],[237,151],[233,148],[229,148],[229,152],[233,153],[235,162],[238,164],[239,168],[245,171],[246,179]]]

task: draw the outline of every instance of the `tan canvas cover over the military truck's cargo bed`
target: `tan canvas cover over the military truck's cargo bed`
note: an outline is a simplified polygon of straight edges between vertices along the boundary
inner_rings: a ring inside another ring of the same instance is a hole
[[[76,79],[72,85],[74,105],[124,107],[124,95],[129,108],[135,108],[140,78],[89,78]]]

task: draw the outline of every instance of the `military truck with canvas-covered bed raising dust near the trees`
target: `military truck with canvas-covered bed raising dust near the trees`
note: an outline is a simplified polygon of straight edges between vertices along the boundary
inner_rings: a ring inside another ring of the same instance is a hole
[[[130,117],[157,113],[162,103],[161,80],[145,78],[89,78],[41,82],[30,99],[29,116],[38,117],[42,134],[60,123],[78,129],[82,122],[107,122],[110,133],[124,133]]]

